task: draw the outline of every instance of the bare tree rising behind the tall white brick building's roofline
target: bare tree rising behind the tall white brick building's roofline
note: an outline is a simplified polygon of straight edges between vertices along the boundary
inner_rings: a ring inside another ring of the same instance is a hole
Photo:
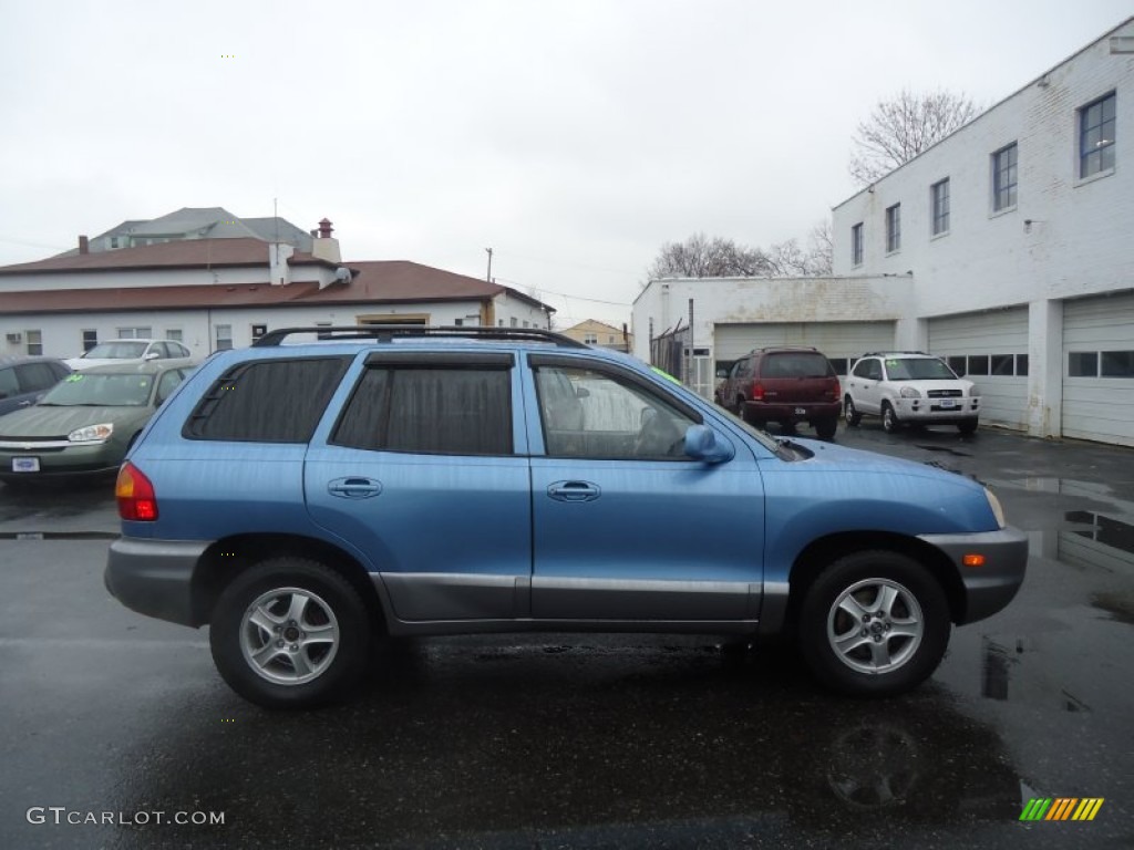
[[[852,137],[850,176],[862,186],[908,162],[980,114],[963,94],[903,90],[880,101]]]

